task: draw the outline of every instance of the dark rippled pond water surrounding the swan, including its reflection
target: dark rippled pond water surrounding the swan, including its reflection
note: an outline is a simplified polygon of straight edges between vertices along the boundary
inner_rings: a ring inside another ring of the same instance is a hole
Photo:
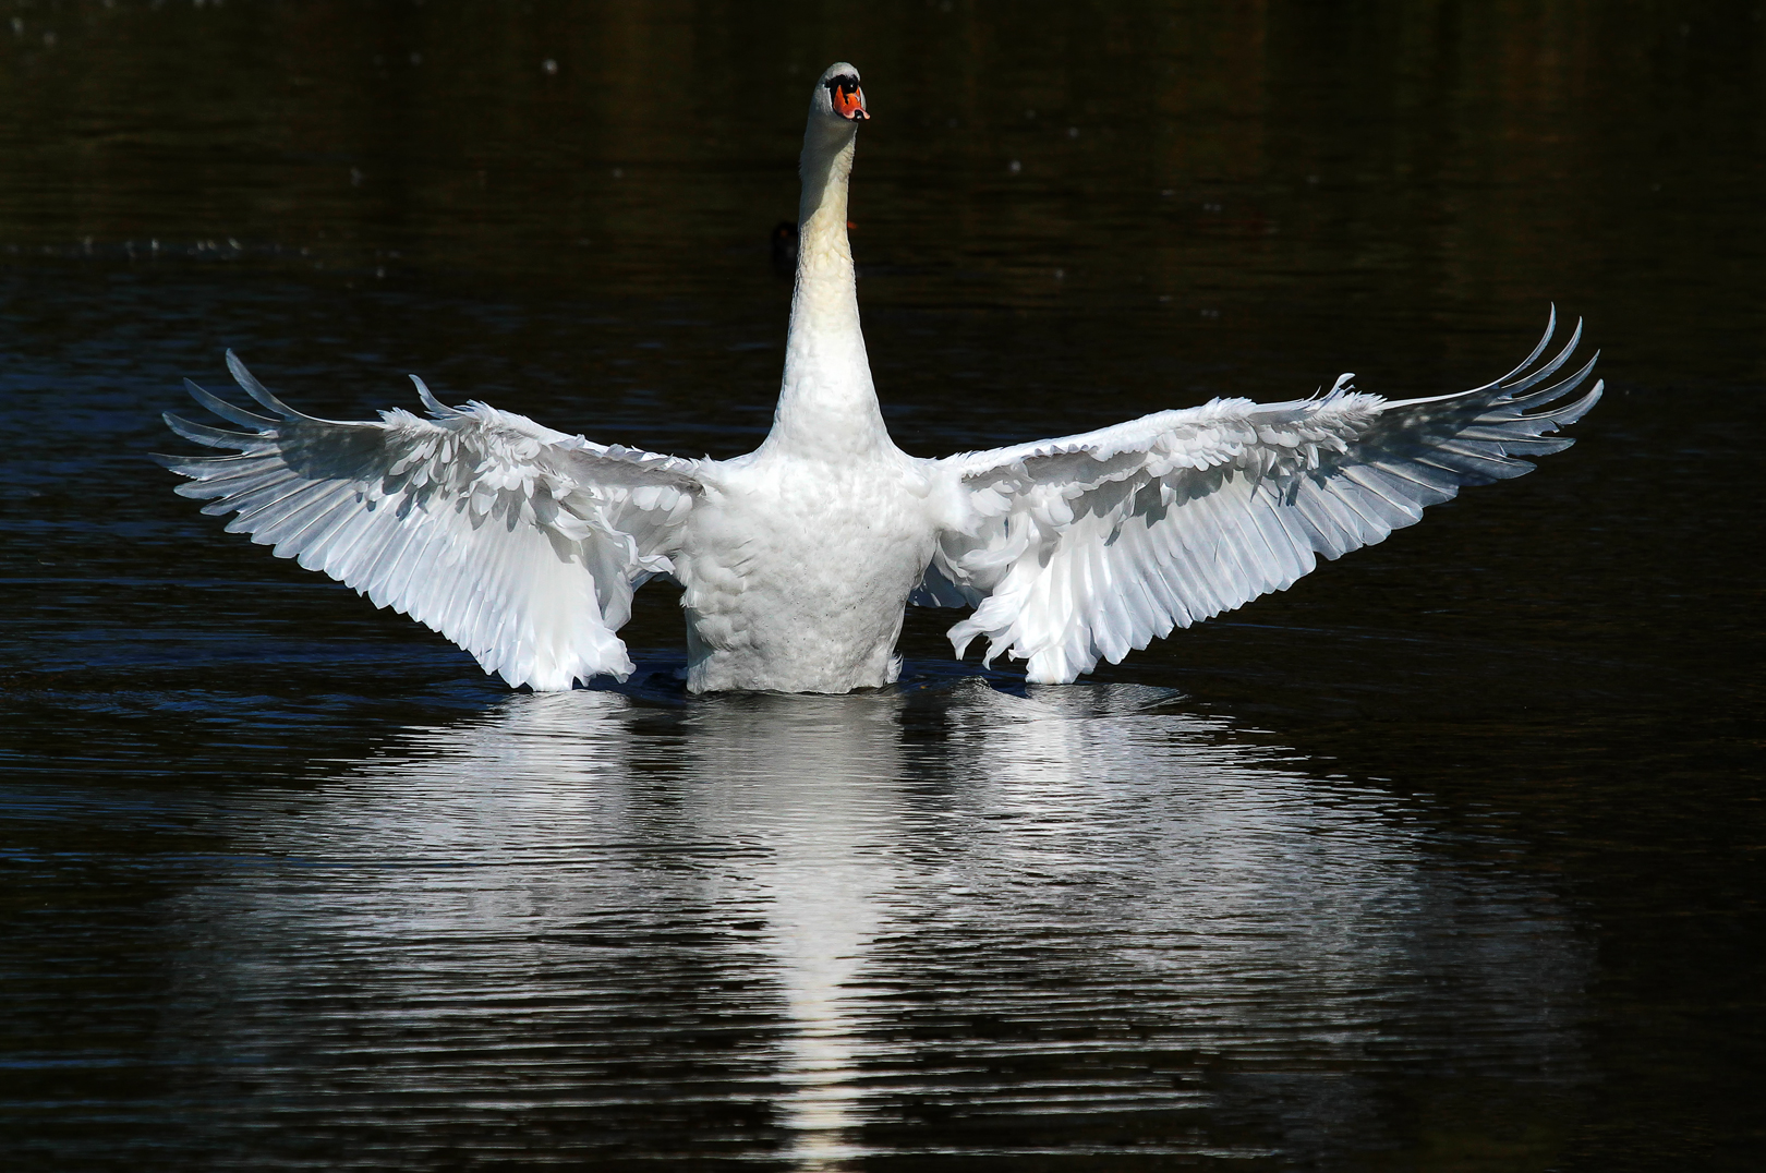
[[[4,18],[5,1168],[1759,1168],[1757,0]],[[224,346],[751,447],[835,58],[909,450],[1609,397],[1068,689],[510,694],[147,461]]]

